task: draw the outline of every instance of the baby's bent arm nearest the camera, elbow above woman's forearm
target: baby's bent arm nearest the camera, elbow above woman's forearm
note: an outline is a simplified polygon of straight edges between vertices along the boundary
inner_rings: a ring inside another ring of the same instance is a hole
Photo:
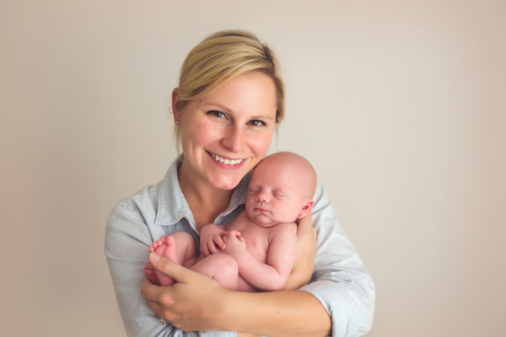
[[[276,225],[271,233],[267,264],[260,262],[246,251],[244,238],[237,238],[232,232],[233,230],[224,237],[227,245],[224,253],[237,260],[239,274],[260,290],[269,292],[282,290],[297,255],[297,226],[287,223]]]

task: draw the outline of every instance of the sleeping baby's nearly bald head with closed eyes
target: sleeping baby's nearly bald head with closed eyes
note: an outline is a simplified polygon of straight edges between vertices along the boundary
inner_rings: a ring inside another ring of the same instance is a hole
[[[316,172],[304,157],[291,152],[267,156],[251,176],[246,213],[262,227],[295,222],[311,212],[316,183]]]

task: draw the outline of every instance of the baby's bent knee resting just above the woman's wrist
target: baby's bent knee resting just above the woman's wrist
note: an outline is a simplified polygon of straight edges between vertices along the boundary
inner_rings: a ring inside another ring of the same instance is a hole
[[[213,277],[228,290],[237,291],[237,261],[224,253],[212,254],[195,264],[191,270]]]

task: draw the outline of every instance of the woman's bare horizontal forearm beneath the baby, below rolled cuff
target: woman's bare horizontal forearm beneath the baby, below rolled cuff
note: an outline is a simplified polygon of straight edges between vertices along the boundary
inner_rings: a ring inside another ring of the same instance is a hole
[[[225,330],[271,337],[331,335],[332,320],[321,303],[305,291],[230,292],[224,301]]]

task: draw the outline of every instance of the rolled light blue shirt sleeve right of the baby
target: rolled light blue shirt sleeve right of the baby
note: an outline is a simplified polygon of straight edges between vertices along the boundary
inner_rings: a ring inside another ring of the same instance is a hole
[[[338,223],[338,216],[321,182],[314,196],[315,269],[301,290],[316,297],[332,316],[332,336],[369,332],[374,314],[374,283]]]

